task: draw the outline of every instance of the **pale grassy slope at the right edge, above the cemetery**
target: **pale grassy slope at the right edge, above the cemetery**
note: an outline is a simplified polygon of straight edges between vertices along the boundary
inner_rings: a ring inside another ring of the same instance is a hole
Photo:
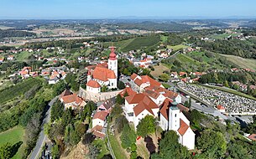
[[[227,54],[222,54],[222,56],[226,57],[227,60],[231,61],[232,63],[238,64],[238,66],[240,66],[241,68],[256,70],[256,59],[243,59],[238,56]]]

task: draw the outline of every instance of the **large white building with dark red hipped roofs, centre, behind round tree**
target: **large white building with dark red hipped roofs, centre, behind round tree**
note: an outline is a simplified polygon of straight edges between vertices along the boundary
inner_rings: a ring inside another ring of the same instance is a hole
[[[125,97],[124,114],[129,122],[133,122],[135,130],[138,122],[146,115],[158,116],[159,106],[143,93]]]

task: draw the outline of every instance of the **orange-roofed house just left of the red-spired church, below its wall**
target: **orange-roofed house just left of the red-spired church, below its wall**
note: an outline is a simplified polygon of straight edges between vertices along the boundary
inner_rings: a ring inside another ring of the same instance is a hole
[[[64,103],[65,109],[71,108],[72,110],[76,110],[81,109],[86,105],[86,102],[76,94],[65,95],[62,98],[60,98],[60,101]]]

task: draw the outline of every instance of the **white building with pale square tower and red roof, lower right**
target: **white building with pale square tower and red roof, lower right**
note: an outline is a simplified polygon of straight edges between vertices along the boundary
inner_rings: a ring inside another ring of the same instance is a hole
[[[192,150],[195,148],[195,133],[191,130],[190,121],[186,119],[182,110],[187,109],[173,100],[166,99],[159,111],[159,126],[164,131],[176,131],[179,143]]]

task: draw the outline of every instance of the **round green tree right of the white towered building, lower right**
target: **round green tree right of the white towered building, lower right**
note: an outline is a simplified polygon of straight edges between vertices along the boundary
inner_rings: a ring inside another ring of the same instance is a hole
[[[227,150],[227,142],[221,132],[203,131],[197,142],[198,148],[208,158],[220,158]]]

